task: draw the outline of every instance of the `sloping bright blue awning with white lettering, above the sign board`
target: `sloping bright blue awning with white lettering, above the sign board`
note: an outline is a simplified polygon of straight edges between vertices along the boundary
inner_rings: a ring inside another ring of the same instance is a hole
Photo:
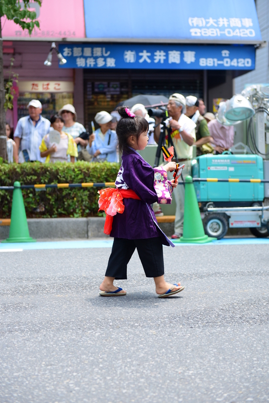
[[[254,0],[84,0],[86,37],[106,42],[261,42]]]

